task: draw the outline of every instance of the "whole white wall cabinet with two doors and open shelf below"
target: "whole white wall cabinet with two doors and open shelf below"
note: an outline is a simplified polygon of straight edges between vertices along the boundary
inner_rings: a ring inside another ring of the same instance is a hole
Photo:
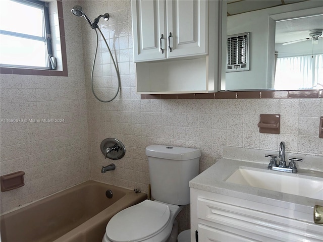
[[[137,93],[218,89],[220,1],[133,0]]]

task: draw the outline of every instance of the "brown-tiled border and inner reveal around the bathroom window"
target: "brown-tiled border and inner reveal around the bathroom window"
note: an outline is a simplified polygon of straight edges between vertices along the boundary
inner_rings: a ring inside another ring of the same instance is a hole
[[[36,76],[68,76],[68,68],[67,68],[67,54],[66,54],[66,43],[65,43],[65,29],[64,29],[64,17],[63,17],[63,3],[62,0],[56,0],[56,6],[54,6],[55,12],[57,11],[56,20],[58,24],[55,24],[55,27],[58,28],[58,36],[56,36],[57,40],[60,43],[60,56],[57,59],[60,63],[60,68],[57,70],[51,69],[39,69],[39,68],[22,68],[22,67],[5,67],[3,65],[0,66],[0,74],[16,74],[16,75],[36,75]],[[50,3],[50,5],[55,3]],[[51,14],[51,9],[49,8],[49,14]],[[56,10],[57,8],[57,10]],[[52,17],[51,17],[52,18]],[[56,52],[57,53],[57,52]]]

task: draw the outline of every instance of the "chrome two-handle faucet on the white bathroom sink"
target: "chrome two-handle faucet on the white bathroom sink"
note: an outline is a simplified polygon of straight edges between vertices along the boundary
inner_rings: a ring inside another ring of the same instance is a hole
[[[302,159],[298,158],[289,158],[290,162],[288,166],[286,165],[285,161],[285,142],[282,141],[279,146],[279,155],[278,157],[281,159],[279,165],[276,163],[276,155],[265,155],[265,157],[271,157],[271,162],[268,164],[268,169],[270,170],[278,170],[283,172],[297,172],[297,167],[295,161],[303,161]]]

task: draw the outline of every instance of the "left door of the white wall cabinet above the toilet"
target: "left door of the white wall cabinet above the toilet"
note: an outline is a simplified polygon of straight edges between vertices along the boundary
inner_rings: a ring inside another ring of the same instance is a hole
[[[134,62],[166,58],[166,0],[131,2]]]

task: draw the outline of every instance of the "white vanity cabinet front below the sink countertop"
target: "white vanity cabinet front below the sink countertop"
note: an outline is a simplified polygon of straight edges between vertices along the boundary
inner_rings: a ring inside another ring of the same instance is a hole
[[[306,208],[281,207],[191,188],[191,241],[322,241],[322,227]],[[298,216],[300,219],[295,219]]]

